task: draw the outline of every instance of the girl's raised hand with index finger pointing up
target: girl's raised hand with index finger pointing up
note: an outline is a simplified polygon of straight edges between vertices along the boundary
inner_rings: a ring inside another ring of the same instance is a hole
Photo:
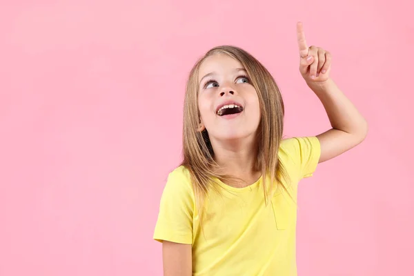
[[[308,47],[302,22],[297,23],[297,45],[299,46],[299,71],[308,86],[320,85],[329,79],[331,53],[316,47]]]

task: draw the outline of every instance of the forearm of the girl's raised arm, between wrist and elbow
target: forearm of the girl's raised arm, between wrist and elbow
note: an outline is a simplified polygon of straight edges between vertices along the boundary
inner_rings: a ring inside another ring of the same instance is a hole
[[[322,102],[333,129],[364,139],[368,131],[366,120],[332,79],[310,87]]]

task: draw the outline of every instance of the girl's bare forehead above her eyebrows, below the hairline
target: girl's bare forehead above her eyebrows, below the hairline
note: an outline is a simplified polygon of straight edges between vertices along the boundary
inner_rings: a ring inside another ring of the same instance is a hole
[[[244,68],[237,59],[233,59],[233,57],[226,54],[215,54],[201,62],[198,79],[200,80],[205,75],[211,73],[219,75],[234,72],[237,68]]]

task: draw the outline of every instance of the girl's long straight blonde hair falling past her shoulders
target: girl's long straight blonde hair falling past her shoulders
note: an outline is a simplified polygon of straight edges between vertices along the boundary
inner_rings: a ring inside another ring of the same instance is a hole
[[[199,93],[198,75],[201,63],[212,55],[224,54],[236,59],[246,69],[250,77],[250,83],[254,86],[259,97],[261,119],[257,130],[257,162],[255,167],[262,171],[262,183],[264,187],[265,202],[267,204],[271,192],[276,187],[266,188],[266,177],[270,177],[270,184],[275,181],[282,184],[284,166],[278,157],[279,144],[282,141],[284,103],[282,95],[270,72],[255,57],[245,50],[234,46],[219,46],[209,50],[201,57],[190,71],[186,86],[184,101],[184,127],[183,127],[183,153],[184,166],[190,172],[193,190],[195,193],[198,212],[202,215],[204,199],[208,190],[215,188],[213,179],[230,179],[233,176],[223,175],[219,172],[219,166],[214,160],[213,148],[208,138],[208,132],[200,132],[199,109],[197,97]]]

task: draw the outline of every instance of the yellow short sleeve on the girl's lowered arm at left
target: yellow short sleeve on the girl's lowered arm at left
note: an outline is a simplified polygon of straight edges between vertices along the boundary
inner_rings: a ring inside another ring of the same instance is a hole
[[[186,174],[182,170],[171,172],[161,196],[153,238],[157,242],[192,244],[194,206],[193,189]]]

